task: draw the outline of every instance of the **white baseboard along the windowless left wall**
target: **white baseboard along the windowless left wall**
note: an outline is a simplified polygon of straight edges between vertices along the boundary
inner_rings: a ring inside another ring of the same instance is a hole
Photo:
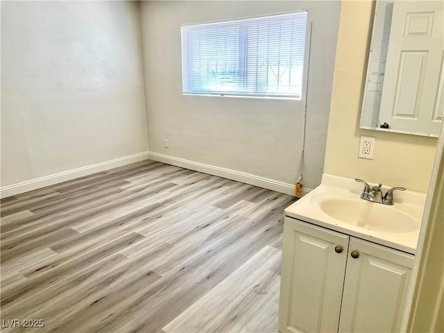
[[[92,173],[105,171],[108,169],[121,167],[126,164],[131,164],[143,160],[148,160],[148,152],[137,153],[130,156],[119,157],[115,160],[101,162],[97,164],[88,165],[78,169],[63,171],[53,175],[26,180],[26,182],[17,182],[16,184],[6,185],[0,188],[0,197],[6,198],[8,196],[15,196],[34,189],[41,189],[42,187],[58,184],[59,182],[66,182],[74,178],[91,175]]]

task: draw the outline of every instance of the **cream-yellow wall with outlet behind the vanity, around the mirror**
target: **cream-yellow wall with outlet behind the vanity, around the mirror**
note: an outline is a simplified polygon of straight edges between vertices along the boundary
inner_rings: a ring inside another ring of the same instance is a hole
[[[427,192],[436,138],[359,128],[373,6],[369,0],[341,6],[324,172]],[[357,157],[360,135],[376,138],[373,160]]]

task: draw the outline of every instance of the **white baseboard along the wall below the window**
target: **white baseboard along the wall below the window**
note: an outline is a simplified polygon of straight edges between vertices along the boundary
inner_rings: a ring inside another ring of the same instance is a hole
[[[294,196],[294,191],[295,191],[294,184],[289,184],[287,182],[280,182],[278,180],[255,176],[250,173],[244,173],[232,169],[216,167],[210,164],[184,160],[183,158],[173,157],[160,153],[154,153],[152,151],[148,152],[148,155],[150,160],[172,164],[175,165],[176,167],[182,167],[185,169],[191,169],[194,171],[208,173],[214,176],[237,180],[238,182],[245,182],[246,184],[255,185],[257,187],[263,187],[264,189],[271,189],[273,191],[278,191],[284,194],[290,194],[291,196]],[[307,194],[309,191],[311,191],[311,189],[302,189],[302,195]]]

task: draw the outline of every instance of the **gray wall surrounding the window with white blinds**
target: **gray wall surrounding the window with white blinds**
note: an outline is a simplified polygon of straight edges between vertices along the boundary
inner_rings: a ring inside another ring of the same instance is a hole
[[[142,2],[150,151],[294,184],[303,103],[182,96],[180,25],[308,7],[313,33],[304,187],[316,187],[323,173],[340,6],[339,1]]]

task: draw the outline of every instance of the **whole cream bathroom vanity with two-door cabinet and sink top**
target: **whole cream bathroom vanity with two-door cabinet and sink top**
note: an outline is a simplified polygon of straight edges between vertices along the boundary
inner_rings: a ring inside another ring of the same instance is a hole
[[[281,333],[400,330],[425,195],[397,192],[383,205],[362,190],[323,175],[285,210]]]

